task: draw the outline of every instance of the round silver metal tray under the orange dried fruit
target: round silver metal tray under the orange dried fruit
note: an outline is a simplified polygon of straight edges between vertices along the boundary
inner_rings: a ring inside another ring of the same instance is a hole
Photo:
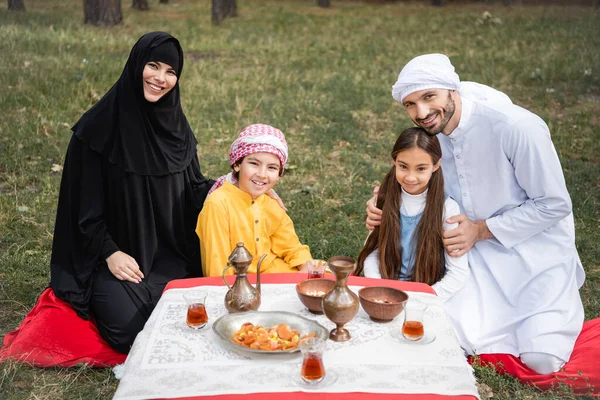
[[[329,331],[323,325],[287,311],[248,311],[244,313],[225,314],[213,323],[213,331],[219,338],[234,348],[251,353],[281,354],[299,351],[297,347],[288,350],[268,351],[251,349],[237,344],[232,340],[233,334],[237,332],[245,322],[251,322],[254,325],[262,325],[264,327],[271,327],[283,323],[287,324],[290,328],[297,330],[300,336],[314,332],[315,336],[320,337],[323,340],[329,338]]]

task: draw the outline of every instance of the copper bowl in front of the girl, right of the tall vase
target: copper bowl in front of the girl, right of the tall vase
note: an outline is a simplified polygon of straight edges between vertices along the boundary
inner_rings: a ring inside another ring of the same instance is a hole
[[[364,287],[358,291],[358,297],[375,322],[390,322],[402,312],[402,302],[408,300],[406,292],[384,286]]]

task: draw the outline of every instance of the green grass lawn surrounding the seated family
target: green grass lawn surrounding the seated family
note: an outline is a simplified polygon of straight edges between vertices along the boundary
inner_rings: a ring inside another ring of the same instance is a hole
[[[238,1],[240,17],[210,24],[208,1],[151,1],[110,29],[83,26],[80,0],[0,5],[0,337],[49,280],[60,172],[69,127],[118,78],[143,33],[166,30],[186,54],[183,106],[204,172],[227,171],[227,149],[246,125],[286,133],[290,167],[277,187],[315,258],[356,256],[365,201],[410,126],[390,95],[415,55],[450,55],[463,80],[490,84],[551,128],[573,199],[587,280],[586,319],[600,315],[600,14],[589,7],[443,9],[418,3]],[[428,2],[424,2],[428,4]],[[501,2],[496,2],[501,3]],[[493,18],[478,24],[482,13]],[[83,61],[83,60],[86,61]],[[586,71],[588,71],[586,73]],[[87,367],[0,367],[0,398],[106,398],[117,381]],[[494,399],[569,398],[540,393],[476,368]]]

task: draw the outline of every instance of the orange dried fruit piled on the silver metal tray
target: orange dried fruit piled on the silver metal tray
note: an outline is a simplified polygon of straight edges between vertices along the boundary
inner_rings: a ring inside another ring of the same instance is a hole
[[[276,351],[290,350],[298,347],[298,342],[304,338],[314,337],[315,333],[300,337],[297,330],[291,329],[286,324],[275,325],[265,328],[245,322],[242,327],[233,334],[235,343],[255,350]]]

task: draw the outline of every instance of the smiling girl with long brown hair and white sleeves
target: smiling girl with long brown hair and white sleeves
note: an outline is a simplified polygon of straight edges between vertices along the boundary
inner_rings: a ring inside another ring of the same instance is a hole
[[[444,197],[440,167],[442,151],[435,136],[409,128],[392,149],[394,165],[377,198],[383,219],[367,238],[356,274],[432,285],[445,301],[469,277],[467,255],[449,257],[442,232],[457,224],[444,221],[460,214],[458,204]]]

